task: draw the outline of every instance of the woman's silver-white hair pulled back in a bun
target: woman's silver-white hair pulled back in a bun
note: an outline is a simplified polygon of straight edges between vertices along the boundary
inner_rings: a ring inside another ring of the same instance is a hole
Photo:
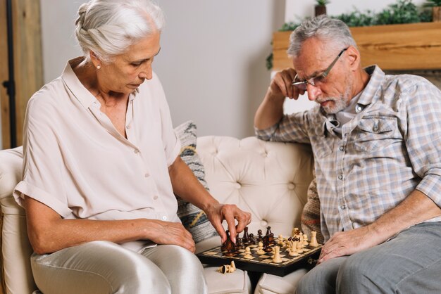
[[[75,37],[89,60],[93,51],[103,62],[125,53],[139,39],[161,31],[164,15],[149,0],[91,0],[78,9]]]

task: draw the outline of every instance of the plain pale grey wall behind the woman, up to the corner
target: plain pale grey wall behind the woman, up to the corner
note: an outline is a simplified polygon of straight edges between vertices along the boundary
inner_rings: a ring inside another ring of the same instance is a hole
[[[194,120],[198,135],[251,136],[268,87],[271,34],[284,22],[285,1],[156,0],[166,13],[161,78],[175,125]],[[44,79],[80,54],[73,35],[82,1],[41,0]]]

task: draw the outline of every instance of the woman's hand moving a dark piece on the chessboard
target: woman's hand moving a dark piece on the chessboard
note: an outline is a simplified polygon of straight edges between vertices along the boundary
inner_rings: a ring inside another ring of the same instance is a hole
[[[228,230],[230,231],[230,239],[236,243],[236,234],[244,230],[251,222],[251,213],[240,210],[234,204],[221,204],[211,205],[205,210],[207,217],[211,224],[213,224],[218,234],[221,236],[222,243],[227,241],[227,234],[223,229],[222,222],[225,219],[228,224]],[[237,220],[237,225],[235,223]]]

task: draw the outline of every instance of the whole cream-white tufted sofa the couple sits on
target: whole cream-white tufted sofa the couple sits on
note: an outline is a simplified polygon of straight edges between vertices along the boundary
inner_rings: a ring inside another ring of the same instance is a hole
[[[312,179],[313,158],[309,146],[203,136],[197,153],[205,167],[211,193],[223,203],[235,203],[251,212],[249,232],[271,226],[275,234],[289,235],[300,226],[306,190]],[[21,148],[0,151],[0,203],[3,213],[2,269],[4,293],[25,294],[36,290],[30,269],[32,248],[27,241],[25,212],[11,193],[21,177]],[[197,250],[219,245],[219,238],[197,244]],[[251,285],[246,271],[220,274],[205,267],[209,293],[292,293],[304,270],[285,276],[263,274]]]

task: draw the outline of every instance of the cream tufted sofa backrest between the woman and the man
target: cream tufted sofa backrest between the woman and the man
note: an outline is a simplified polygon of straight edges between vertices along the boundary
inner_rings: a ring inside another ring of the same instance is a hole
[[[300,227],[306,191],[312,180],[311,147],[248,137],[202,136],[197,153],[211,194],[251,212],[249,233],[271,226],[275,235]]]

